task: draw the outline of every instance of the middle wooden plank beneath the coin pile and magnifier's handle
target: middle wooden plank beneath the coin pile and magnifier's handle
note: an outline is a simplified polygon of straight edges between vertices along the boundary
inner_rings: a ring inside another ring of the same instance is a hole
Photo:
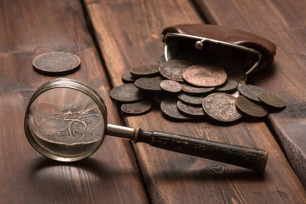
[[[162,54],[163,28],[201,23],[186,1],[85,0],[111,82],[133,66],[156,62]],[[112,20],[110,20],[112,19]],[[124,117],[126,125],[143,130],[206,138],[269,151],[264,174],[218,162],[135,145],[136,155],[152,203],[290,203],[305,202],[305,191],[264,122],[233,125],[207,120],[175,122],[156,105],[143,116]]]

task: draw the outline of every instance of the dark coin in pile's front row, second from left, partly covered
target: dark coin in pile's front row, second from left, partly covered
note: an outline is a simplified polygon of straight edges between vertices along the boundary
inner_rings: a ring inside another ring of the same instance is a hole
[[[179,108],[177,108],[176,98],[167,98],[163,100],[161,103],[161,110],[166,116],[173,119],[188,120],[192,118],[191,116],[183,114],[179,111]]]

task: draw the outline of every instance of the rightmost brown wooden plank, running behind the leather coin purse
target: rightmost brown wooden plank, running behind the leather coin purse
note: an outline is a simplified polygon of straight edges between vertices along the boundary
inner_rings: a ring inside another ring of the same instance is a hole
[[[284,111],[269,114],[268,123],[306,188],[306,2],[197,0],[197,3],[209,21],[258,34],[276,44],[270,70],[250,77],[249,81],[273,90],[287,101]]]

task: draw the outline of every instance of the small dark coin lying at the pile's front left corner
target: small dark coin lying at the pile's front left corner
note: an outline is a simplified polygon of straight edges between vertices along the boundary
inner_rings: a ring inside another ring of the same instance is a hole
[[[148,112],[151,106],[149,101],[142,100],[133,104],[122,104],[121,111],[131,115],[139,115]]]

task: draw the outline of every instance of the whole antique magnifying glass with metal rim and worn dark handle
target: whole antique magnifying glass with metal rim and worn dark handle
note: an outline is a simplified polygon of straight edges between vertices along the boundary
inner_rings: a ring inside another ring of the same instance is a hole
[[[99,94],[70,79],[47,82],[34,92],[25,113],[24,130],[38,152],[62,162],[92,155],[105,135],[257,171],[264,171],[268,158],[268,152],[261,149],[108,124]]]

